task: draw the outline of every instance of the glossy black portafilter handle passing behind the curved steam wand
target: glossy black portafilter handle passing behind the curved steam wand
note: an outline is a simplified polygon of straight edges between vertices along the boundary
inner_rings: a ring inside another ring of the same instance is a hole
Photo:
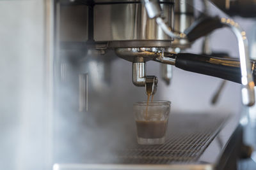
[[[180,69],[241,83],[239,59],[211,57],[193,53],[179,53],[175,57],[175,66]],[[253,81],[256,83],[255,61],[251,60],[251,63]]]

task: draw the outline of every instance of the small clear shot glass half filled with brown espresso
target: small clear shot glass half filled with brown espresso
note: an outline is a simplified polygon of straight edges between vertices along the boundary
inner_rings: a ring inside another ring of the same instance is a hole
[[[170,101],[138,102],[133,106],[140,145],[161,145],[165,141]]]

